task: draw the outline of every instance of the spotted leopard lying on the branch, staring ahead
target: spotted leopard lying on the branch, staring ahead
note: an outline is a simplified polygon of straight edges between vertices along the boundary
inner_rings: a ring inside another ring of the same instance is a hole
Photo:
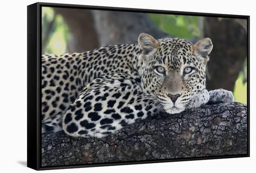
[[[229,90],[206,89],[210,38],[155,39],[81,53],[42,55],[42,133],[102,138],[147,117],[203,104],[234,102]]]

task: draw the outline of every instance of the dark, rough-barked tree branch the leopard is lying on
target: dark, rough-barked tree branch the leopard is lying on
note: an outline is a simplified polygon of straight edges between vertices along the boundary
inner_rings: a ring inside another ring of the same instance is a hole
[[[102,139],[42,135],[42,166],[247,154],[247,107],[203,105],[136,122]]]

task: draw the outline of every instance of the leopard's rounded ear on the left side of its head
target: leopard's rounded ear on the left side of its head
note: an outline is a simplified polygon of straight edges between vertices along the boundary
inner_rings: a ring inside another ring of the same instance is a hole
[[[142,54],[145,55],[150,54],[159,46],[159,43],[155,40],[155,38],[147,33],[141,33],[139,35],[138,44],[141,47]]]

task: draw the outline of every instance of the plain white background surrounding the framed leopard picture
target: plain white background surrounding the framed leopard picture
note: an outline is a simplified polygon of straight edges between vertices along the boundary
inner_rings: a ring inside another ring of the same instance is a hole
[[[0,170],[2,173],[32,172],[25,167],[27,160],[27,5],[36,1],[2,0],[0,10]],[[94,6],[116,6],[172,11],[227,13],[250,15],[250,97],[255,96],[255,32],[256,10],[253,0],[45,0],[45,2]],[[254,77],[254,78],[253,78]],[[132,166],[96,167],[54,170],[53,172],[232,172],[249,173],[255,170],[256,101],[251,99],[250,136],[251,157],[221,160],[200,160]],[[10,122],[10,123],[9,123]]]

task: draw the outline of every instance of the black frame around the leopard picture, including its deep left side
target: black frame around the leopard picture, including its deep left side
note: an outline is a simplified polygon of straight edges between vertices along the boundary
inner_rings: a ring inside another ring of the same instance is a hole
[[[97,163],[97,164],[83,164],[83,165],[67,165],[54,167],[41,167],[41,8],[43,6],[63,7],[63,8],[81,8],[81,9],[97,9],[97,10],[112,10],[123,12],[140,12],[140,13],[162,13],[162,14],[182,14],[190,16],[207,16],[207,17],[223,17],[223,18],[239,18],[247,19],[247,154],[238,155],[222,155],[222,156],[207,156],[207,157],[190,157],[181,159],[165,159],[165,160],[144,160],[144,161],[129,161],[129,162],[113,162],[113,163]],[[223,159],[223,158],[239,158],[249,157],[249,16],[246,15],[230,15],[230,14],[213,14],[213,13],[194,13],[194,12],[178,12],[178,11],[163,11],[163,10],[149,10],[136,8],[120,8],[107,6],[85,6],[73,4],[56,4],[56,3],[42,3],[38,2],[27,6],[27,167],[35,170],[48,169],[63,169],[63,168],[78,168],[78,167],[101,167],[114,165],[130,165],[141,163],[157,163],[157,162],[172,162],[172,161],[186,161],[186,160],[209,160],[209,159]]]

